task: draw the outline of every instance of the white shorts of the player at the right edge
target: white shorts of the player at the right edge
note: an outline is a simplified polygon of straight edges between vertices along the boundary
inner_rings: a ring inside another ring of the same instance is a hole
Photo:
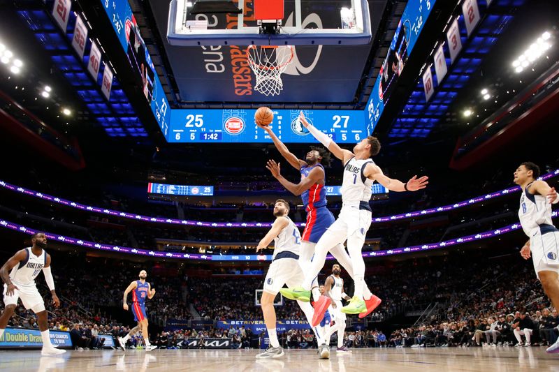
[[[534,229],[530,237],[532,262],[539,278],[539,271],[559,274],[559,231],[552,225]]]

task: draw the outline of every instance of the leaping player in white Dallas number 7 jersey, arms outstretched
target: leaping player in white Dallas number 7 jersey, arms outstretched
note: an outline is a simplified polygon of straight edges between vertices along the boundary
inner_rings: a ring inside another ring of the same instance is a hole
[[[351,258],[351,266],[354,269],[355,292],[351,302],[344,306],[342,311],[348,314],[362,313],[367,309],[367,306],[363,300],[365,262],[361,255],[361,249],[363,248],[365,235],[369,230],[372,219],[369,205],[372,183],[377,181],[390,191],[418,191],[426,187],[428,177],[417,178],[414,176],[405,184],[397,179],[386,177],[378,165],[371,160],[371,156],[377,155],[380,151],[380,142],[376,137],[369,136],[364,138],[354,146],[352,152],[340,148],[326,133],[319,131],[309,124],[303,112],[301,112],[299,119],[314,138],[319,140],[324,147],[344,164],[342,210],[337,220],[322,235],[317,246],[314,248],[312,266],[309,271],[305,272],[303,285],[298,288],[282,290],[281,292],[286,297],[296,299],[309,297],[312,280],[319,274],[321,268],[324,267],[326,254],[332,247],[347,239],[347,251]],[[268,164],[270,163],[268,162]],[[328,297],[321,296],[314,303],[318,316],[315,315],[313,323],[316,322],[317,318],[321,318],[319,311],[324,313],[328,307],[325,307],[324,304],[329,304],[330,301]]]

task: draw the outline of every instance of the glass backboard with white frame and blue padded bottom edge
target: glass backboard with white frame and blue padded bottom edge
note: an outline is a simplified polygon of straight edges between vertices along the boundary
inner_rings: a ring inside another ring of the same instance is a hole
[[[371,39],[367,0],[284,0],[277,34],[261,33],[255,0],[234,1],[240,14],[192,15],[194,1],[170,2],[170,45],[365,45]]]

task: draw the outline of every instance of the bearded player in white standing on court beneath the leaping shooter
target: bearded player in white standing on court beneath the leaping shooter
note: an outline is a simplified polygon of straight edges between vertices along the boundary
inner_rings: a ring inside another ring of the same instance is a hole
[[[272,240],[274,241],[273,260],[268,268],[268,274],[264,279],[262,297],[260,300],[264,322],[270,337],[270,347],[259,355],[256,359],[279,358],[284,355],[284,350],[277,340],[276,318],[274,299],[279,289],[287,285],[296,285],[303,281],[303,269],[298,264],[300,253],[300,232],[295,223],[288,217],[289,204],[282,199],[278,199],[274,205],[275,221],[270,231],[261,239],[256,251],[267,248]],[[312,320],[314,311],[308,302],[298,301],[298,304],[305,313],[308,322]],[[321,335],[317,327],[312,327],[317,337],[319,345],[321,345]],[[330,350],[319,348],[321,358],[330,356]]]

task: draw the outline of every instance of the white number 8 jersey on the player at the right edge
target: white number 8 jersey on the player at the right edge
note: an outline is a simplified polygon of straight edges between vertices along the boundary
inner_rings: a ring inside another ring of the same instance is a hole
[[[520,197],[520,209],[518,209],[520,224],[525,235],[528,235],[528,237],[532,237],[530,232],[535,228],[539,228],[539,225],[553,225],[553,221],[551,221],[551,204],[543,195],[528,193],[530,185],[526,186],[523,191]]]

